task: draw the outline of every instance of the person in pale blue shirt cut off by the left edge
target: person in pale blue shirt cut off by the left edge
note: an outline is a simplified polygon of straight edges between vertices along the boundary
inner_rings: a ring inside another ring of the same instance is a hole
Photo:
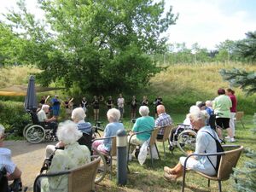
[[[18,166],[11,160],[11,151],[9,148],[3,148],[4,138],[4,127],[0,125],[0,168],[5,168],[8,180],[15,180],[16,178],[20,178],[21,172]]]

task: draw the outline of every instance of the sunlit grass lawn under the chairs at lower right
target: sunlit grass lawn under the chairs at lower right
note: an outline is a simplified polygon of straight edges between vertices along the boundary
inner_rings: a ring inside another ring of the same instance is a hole
[[[182,122],[184,114],[172,115],[175,123]],[[243,145],[245,148],[256,149],[255,133],[250,131],[253,128],[253,116],[247,115],[244,117],[246,128],[243,129],[241,123],[237,123],[236,127],[236,143]],[[125,127],[129,127],[128,119],[124,120]],[[256,125],[254,125],[255,127]],[[166,144],[167,145],[167,144]],[[113,179],[109,180],[108,175],[105,179],[96,186],[97,191],[180,191],[182,185],[182,178],[177,180],[177,183],[168,183],[163,179],[163,167],[175,166],[180,156],[183,154],[178,148],[171,154],[167,151],[166,160],[164,160],[164,152],[162,143],[157,143],[160,150],[161,160],[154,160],[154,168],[151,167],[150,158],[148,156],[145,164],[140,166],[137,160],[132,160],[129,163],[131,173],[128,174],[127,184],[125,187],[118,187],[116,185],[116,170],[113,171]],[[249,160],[245,154],[241,155],[236,167],[243,166],[245,161]],[[223,182],[223,191],[236,191],[233,188],[234,180],[230,179]],[[186,177],[187,187],[185,191],[218,191],[218,183],[212,181],[211,187],[207,187],[207,179],[200,177],[198,174],[189,172]]]

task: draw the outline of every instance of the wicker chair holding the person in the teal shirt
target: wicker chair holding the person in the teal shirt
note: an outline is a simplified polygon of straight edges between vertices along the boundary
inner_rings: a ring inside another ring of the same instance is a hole
[[[159,151],[158,151],[158,148],[156,146],[156,137],[157,137],[157,134],[159,132],[160,128],[157,127],[153,130],[148,130],[148,131],[139,131],[139,132],[135,132],[131,135],[131,137],[134,137],[138,134],[142,134],[142,133],[145,133],[145,132],[151,132],[151,137],[150,137],[150,140],[149,140],[149,143],[148,143],[148,148],[149,148],[149,153],[150,153],[150,157],[151,157],[151,165],[152,167],[154,166],[153,164],[153,157],[152,157],[152,147],[155,146],[156,148],[156,151],[157,151],[157,154],[158,154],[158,157],[160,159],[160,154],[159,154]],[[129,141],[128,141],[128,154],[130,154],[130,148],[131,148],[131,137],[129,138]],[[128,166],[128,163],[129,163],[129,155],[127,155],[127,166]]]

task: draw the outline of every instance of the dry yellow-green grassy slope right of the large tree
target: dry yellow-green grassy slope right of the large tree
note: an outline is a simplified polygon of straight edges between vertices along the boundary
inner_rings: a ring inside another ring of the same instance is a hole
[[[224,82],[218,72],[221,68],[230,69],[232,67],[256,71],[255,66],[234,63],[225,66],[221,64],[174,65],[151,79],[149,95],[163,96],[164,102],[169,106],[171,112],[185,113],[189,106],[196,101],[214,99],[218,88],[228,88],[229,83]],[[255,94],[246,97],[239,88],[234,89],[238,97],[238,110],[254,113],[255,110],[251,106],[255,105]]]

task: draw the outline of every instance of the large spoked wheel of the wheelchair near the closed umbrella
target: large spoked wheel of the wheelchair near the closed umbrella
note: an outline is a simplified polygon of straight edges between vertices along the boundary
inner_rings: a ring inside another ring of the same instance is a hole
[[[26,129],[26,140],[29,143],[40,143],[44,140],[45,130],[40,125],[32,125]]]

